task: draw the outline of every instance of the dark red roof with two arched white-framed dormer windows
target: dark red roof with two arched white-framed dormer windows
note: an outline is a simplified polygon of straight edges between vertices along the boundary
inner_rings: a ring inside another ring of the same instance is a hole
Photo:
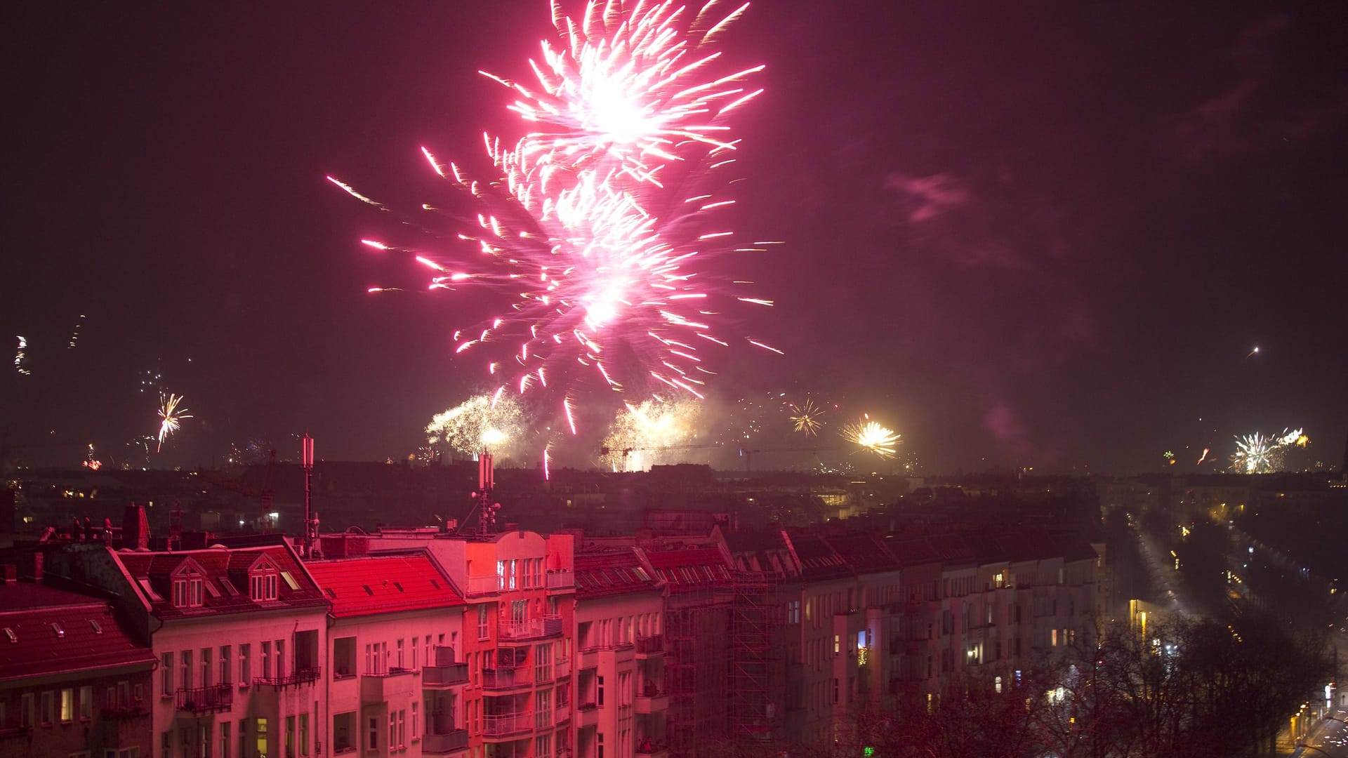
[[[112,554],[131,576],[136,592],[150,606],[150,612],[164,620],[264,608],[328,606],[322,591],[310,579],[299,557],[284,544],[248,549],[217,545],[205,550],[173,553],[115,550]],[[276,569],[279,577],[275,600],[253,600],[249,596],[248,579],[253,568]],[[205,592],[200,607],[173,604],[174,577],[185,572],[201,573]]]

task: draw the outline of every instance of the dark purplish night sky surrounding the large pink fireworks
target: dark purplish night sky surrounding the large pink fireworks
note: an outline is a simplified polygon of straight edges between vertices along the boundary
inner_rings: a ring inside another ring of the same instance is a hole
[[[545,1],[3,26],[0,322],[32,371],[4,382],[11,446],[117,457],[154,430],[151,370],[197,414],[156,464],[305,430],[383,459],[484,382],[449,349],[464,301],[365,294],[419,274],[357,243],[387,214],[324,177],[415,206],[439,192],[419,146],[518,136],[476,71],[527,76]],[[776,301],[739,328],[787,356],[724,359],[717,392],[869,411],[942,471],[1192,469],[1285,426],[1337,463],[1344,28],[1341,3],[755,3],[723,38],[767,63],[733,223],[786,244],[717,266]]]

